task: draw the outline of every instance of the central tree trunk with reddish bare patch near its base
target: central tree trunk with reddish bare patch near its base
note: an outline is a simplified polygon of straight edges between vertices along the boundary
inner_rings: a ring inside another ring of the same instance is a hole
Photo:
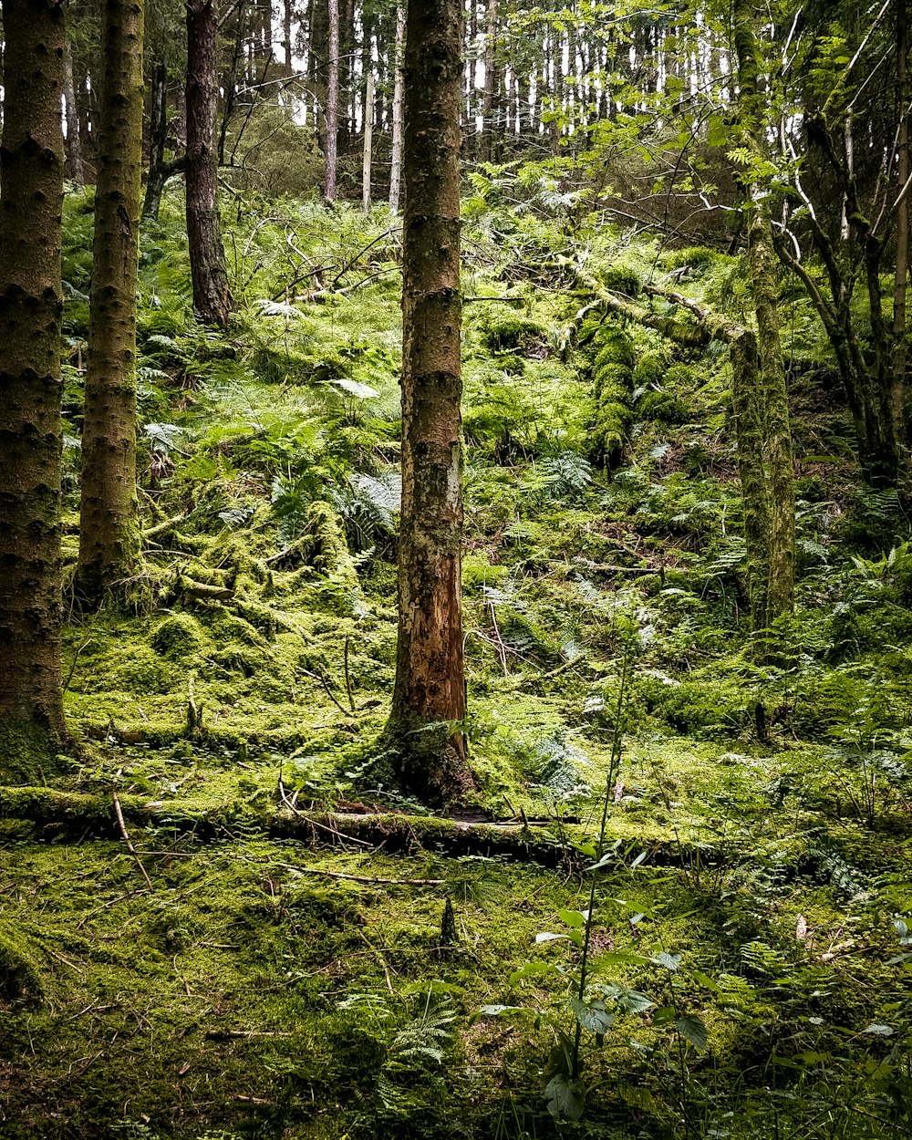
[[[399,638],[389,734],[409,791],[471,785],[461,559],[459,0],[412,0],[405,52],[402,511]]]

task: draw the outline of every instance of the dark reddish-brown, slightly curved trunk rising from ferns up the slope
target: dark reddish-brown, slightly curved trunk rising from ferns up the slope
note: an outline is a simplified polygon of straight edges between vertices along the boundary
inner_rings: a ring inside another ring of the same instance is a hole
[[[217,32],[215,0],[187,0],[187,244],[193,303],[206,324],[225,327],[235,303],[219,219]]]

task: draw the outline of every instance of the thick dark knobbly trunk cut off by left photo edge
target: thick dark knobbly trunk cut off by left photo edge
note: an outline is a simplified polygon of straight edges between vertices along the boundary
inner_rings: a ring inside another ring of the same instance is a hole
[[[0,147],[0,772],[66,735],[60,692],[64,6],[3,0]]]

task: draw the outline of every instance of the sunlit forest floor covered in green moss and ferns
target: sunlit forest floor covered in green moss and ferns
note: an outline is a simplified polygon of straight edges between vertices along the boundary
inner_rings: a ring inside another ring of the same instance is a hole
[[[89,215],[67,209],[72,561]],[[192,320],[170,215],[146,236],[147,572],[125,616],[73,602],[79,759],[0,790],[9,1140],[912,1127],[898,500],[853,489],[793,307],[800,578],[758,665],[725,359],[585,314],[567,219],[466,212],[478,792],[451,819],[365,779],[396,640],[394,227],[238,223],[225,337]],[[298,296],[287,233],[319,262]],[[614,287],[686,266],[738,310],[734,260],[657,256],[588,238]]]

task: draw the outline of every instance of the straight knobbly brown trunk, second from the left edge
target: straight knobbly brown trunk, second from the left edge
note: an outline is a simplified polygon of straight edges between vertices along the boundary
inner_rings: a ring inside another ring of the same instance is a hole
[[[142,0],[101,5],[100,139],[82,430],[78,595],[123,600],[141,562],[136,490],[136,285],[142,171]]]

